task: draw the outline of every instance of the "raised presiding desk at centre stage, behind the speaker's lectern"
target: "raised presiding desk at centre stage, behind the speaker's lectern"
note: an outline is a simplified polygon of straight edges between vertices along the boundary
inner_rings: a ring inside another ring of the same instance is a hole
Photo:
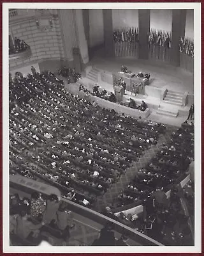
[[[131,93],[145,94],[145,85],[149,84],[149,79],[137,77],[134,73],[117,72],[113,74],[113,86],[121,79],[126,83],[126,91]]]

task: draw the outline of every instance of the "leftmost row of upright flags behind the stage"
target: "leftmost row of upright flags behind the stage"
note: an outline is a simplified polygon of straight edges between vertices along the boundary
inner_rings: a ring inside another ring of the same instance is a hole
[[[138,42],[138,28],[117,29],[113,31],[114,42]]]

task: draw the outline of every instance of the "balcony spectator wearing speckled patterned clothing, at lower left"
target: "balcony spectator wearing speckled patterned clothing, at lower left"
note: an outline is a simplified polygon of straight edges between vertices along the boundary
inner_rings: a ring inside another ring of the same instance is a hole
[[[31,195],[31,217],[38,218],[42,216],[46,209],[46,200],[41,197],[41,194],[34,192]]]

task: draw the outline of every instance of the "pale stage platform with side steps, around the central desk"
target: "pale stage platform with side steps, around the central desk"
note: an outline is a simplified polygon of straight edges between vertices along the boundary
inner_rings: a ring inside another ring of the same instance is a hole
[[[194,100],[194,77],[182,68],[158,63],[151,65],[147,61],[133,58],[95,58],[89,62],[84,76],[78,83],[82,83],[91,92],[95,84],[107,92],[114,92],[113,74],[120,70],[121,64],[128,67],[131,72],[149,72],[151,75],[149,85],[145,86],[144,95],[135,95],[126,90],[123,102],[132,98],[136,104],[141,104],[144,100],[150,109],[150,115],[147,118],[164,124],[180,126],[186,120]],[[168,92],[169,95],[166,97]]]

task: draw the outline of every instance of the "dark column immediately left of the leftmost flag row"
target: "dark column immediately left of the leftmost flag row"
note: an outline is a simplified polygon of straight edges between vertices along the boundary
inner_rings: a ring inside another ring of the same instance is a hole
[[[112,10],[103,9],[103,29],[106,57],[115,57],[115,47],[113,41],[113,19]]]

